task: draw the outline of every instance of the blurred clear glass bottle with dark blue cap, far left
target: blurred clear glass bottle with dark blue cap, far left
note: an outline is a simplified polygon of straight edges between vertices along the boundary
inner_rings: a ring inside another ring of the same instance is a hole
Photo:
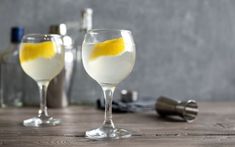
[[[11,44],[0,54],[1,107],[23,105],[23,72],[19,62],[19,44],[24,35],[23,27],[11,28]]]

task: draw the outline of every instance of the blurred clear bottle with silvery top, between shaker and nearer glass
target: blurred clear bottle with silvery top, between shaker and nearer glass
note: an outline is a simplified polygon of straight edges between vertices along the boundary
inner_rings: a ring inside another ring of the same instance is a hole
[[[81,55],[81,48],[84,36],[87,33],[87,31],[92,29],[92,14],[93,10],[91,8],[85,8],[81,11],[81,18],[79,21],[79,32],[78,35],[76,35],[75,37],[76,46],[77,46],[77,59],[76,59],[77,64],[75,69],[75,80],[72,83],[73,85],[72,89],[74,90],[74,93],[77,94],[75,94],[76,97],[73,97],[73,99],[71,99],[72,104],[84,103],[82,99],[86,99],[88,97],[87,96],[87,93],[89,93],[88,91],[92,89],[90,84],[90,81],[92,80],[85,72],[85,69],[82,65],[82,55]]]

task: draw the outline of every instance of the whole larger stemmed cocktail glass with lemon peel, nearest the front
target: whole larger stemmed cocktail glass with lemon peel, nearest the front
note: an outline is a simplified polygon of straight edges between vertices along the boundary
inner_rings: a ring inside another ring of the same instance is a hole
[[[128,30],[90,30],[82,45],[82,61],[88,75],[101,86],[105,98],[103,125],[86,131],[90,139],[128,138],[131,133],[116,128],[112,121],[112,99],[115,87],[132,71],[135,44]]]

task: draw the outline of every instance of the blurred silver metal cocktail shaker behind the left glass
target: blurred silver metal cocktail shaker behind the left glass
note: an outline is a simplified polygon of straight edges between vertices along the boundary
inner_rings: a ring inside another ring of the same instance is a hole
[[[71,96],[71,81],[73,80],[76,49],[73,47],[73,41],[67,35],[67,26],[65,24],[51,25],[50,34],[59,34],[65,49],[65,66],[59,75],[57,75],[49,84],[47,93],[47,105],[51,108],[66,107]]]

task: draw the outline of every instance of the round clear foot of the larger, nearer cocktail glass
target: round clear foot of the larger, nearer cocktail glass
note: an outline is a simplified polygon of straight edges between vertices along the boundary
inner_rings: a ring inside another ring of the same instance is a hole
[[[86,138],[94,140],[129,138],[131,133],[125,129],[100,127],[98,129],[86,131]]]

